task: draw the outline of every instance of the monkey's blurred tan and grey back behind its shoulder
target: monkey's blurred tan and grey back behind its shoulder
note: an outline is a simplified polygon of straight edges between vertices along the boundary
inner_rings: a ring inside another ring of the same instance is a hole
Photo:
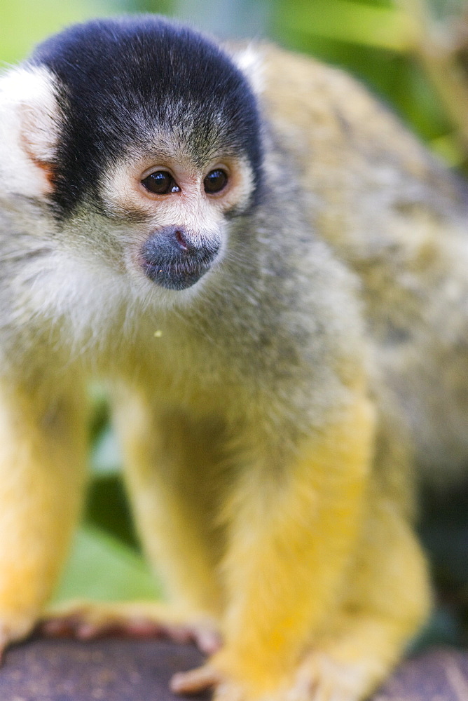
[[[312,226],[361,280],[378,399],[420,465],[466,464],[466,185],[350,76],[262,52],[266,114],[311,193]]]

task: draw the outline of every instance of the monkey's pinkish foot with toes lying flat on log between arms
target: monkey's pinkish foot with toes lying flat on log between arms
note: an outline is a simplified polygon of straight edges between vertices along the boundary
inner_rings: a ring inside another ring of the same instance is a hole
[[[161,637],[177,643],[193,642],[207,655],[221,647],[221,637],[212,620],[184,617],[153,602],[106,604],[75,601],[50,608],[39,630],[49,637],[81,640],[108,635]]]

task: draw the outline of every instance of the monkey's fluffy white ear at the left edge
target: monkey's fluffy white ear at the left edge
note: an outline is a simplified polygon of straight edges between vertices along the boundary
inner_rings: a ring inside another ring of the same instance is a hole
[[[53,189],[60,133],[54,81],[42,67],[20,67],[0,78],[0,179],[29,196]]]

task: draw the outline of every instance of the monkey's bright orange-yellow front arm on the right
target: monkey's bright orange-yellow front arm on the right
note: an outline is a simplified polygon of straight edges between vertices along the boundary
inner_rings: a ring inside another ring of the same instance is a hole
[[[266,479],[275,455],[263,456],[230,501],[225,646],[210,664],[242,681],[247,697],[291,681],[329,625],[362,525],[373,423],[373,407],[359,395],[298,447],[287,471]],[[194,680],[178,676],[174,688],[192,690]]]

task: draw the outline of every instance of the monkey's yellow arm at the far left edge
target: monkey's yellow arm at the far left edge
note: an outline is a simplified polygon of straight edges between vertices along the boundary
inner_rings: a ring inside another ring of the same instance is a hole
[[[0,381],[0,650],[32,629],[60,573],[83,494],[84,407],[77,388]]]

